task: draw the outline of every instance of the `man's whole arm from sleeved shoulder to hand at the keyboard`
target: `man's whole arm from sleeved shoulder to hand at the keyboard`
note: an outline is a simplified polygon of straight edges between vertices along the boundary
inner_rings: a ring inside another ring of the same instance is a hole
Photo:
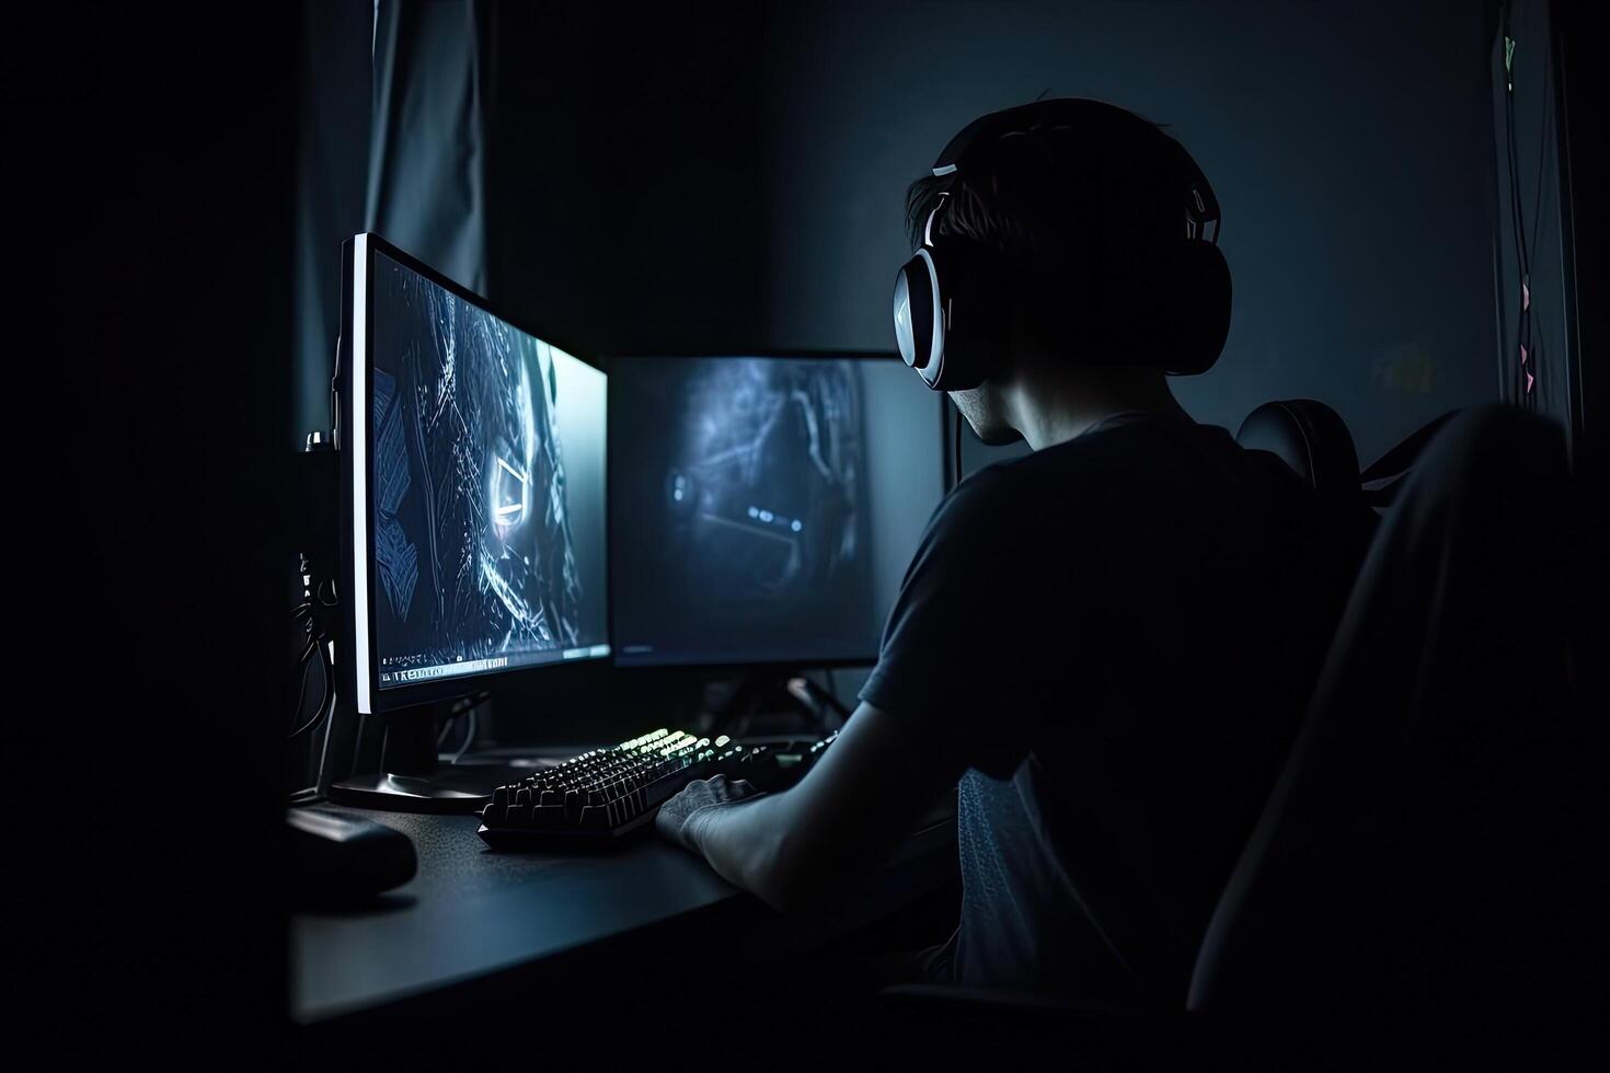
[[[1066,672],[1046,658],[1043,631],[995,629],[1067,618],[1058,578],[1026,574],[1001,545],[1003,534],[1037,531],[1037,504],[1000,467],[956,487],[923,534],[861,689],[879,706],[863,701],[792,790],[733,803],[744,787],[692,783],[667,803],[660,830],[787,909],[887,861],[969,766],[1016,769],[1046,676]],[[1059,555],[1077,555],[1058,539]],[[1058,653],[1082,652],[1079,640],[1067,624]],[[976,721],[980,713],[989,717]]]

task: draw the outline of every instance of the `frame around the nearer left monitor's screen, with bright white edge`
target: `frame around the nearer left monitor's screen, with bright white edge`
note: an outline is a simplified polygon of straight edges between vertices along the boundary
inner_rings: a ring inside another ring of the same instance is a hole
[[[341,467],[343,489],[343,526],[341,526],[341,544],[343,544],[343,578],[348,582],[348,592],[343,594],[346,602],[351,603],[353,613],[343,616],[343,647],[351,658],[345,660],[346,664],[341,674],[341,685],[349,690],[354,706],[359,714],[383,714],[391,711],[399,711],[404,708],[417,708],[420,705],[430,705],[435,701],[451,700],[456,697],[469,697],[473,693],[481,693],[494,690],[499,685],[507,685],[514,680],[525,684],[528,676],[538,676],[544,672],[547,676],[570,676],[586,672],[584,669],[607,668],[610,664],[610,656],[613,655],[613,637],[610,634],[612,618],[613,618],[613,594],[610,586],[610,508],[609,508],[609,487],[610,487],[610,467],[609,467],[609,368],[596,357],[584,357],[578,352],[578,347],[570,344],[567,339],[554,338],[541,331],[535,331],[530,325],[522,323],[514,317],[507,317],[502,310],[491,306],[486,298],[477,294],[467,286],[457,283],[456,280],[443,275],[436,269],[430,267],[419,257],[398,249],[393,243],[386,241],[383,236],[374,232],[359,232],[353,238],[343,243],[343,341],[340,347],[340,368],[336,375],[336,393],[338,393],[338,436],[336,447],[346,457],[346,463]],[[374,339],[374,301],[369,282],[374,278],[374,257],[375,253],[382,253],[391,261],[401,264],[411,272],[417,272],[431,283],[441,286],[443,290],[452,293],[456,298],[475,306],[481,312],[486,312],[499,320],[509,323],[512,328],[523,331],[536,339],[554,346],[570,357],[576,359],[583,365],[601,372],[605,376],[604,386],[604,645],[609,652],[601,655],[578,656],[573,660],[557,660],[552,663],[538,663],[518,668],[507,668],[499,671],[488,671],[481,674],[467,674],[460,677],[431,679],[427,682],[419,682],[414,685],[391,685],[380,689],[380,666],[378,653],[375,650],[375,606],[372,594],[377,590],[375,563],[372,547],[361,549],[361,544],[370,544],[369,534],[374,532],[374,495],[369,491],[369,473],[361,473],[362,467],[369,465],[369,458],[374,452],[374,430],[365,420],[362,423],[362,442],[359,442],[357,420],[353,405],[357,399],[367,399],[369,389],[372,386],[374,373],[374,352],[370,341]],[[362,264],[359,259],[362,257]],[[357,309],[357,282],[362,280],[362,309]],[[362,354],[357,354],[357,322],[356,315],[362,315]],[[341,430],[351,430],[351,434],[341,436]],[[351,441],[351,442],[348,442]],[[362,481],[362,484],[359,484]],[[362,487],[362,492],[359,492]],[[359,508],[359,495],[362,494],[362,510],[364,510],[364,531],[362,534],[356,529],[356,512]],[[359,573],[362,569],[362,573]],[[362,627],[362,632],[359,632]],[[340,656],[340,653],[336,653]],[[557,684],[557,682],[555,682]]]

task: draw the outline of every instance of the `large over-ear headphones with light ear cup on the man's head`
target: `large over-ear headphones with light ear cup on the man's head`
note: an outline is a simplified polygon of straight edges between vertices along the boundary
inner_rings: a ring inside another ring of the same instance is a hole
[[[1018,148],[1038,150],[1043,175],[1056,182],[1055,161],[1066,138],[1088,134],[1096,145],[1122,143],[1135,156],[1161,162],[1169,196],[1179,199],[1183,227],[1177,240],[1140,251],[1141,278],[1109,280],[1095,272],[1088,294],[1071,294],[1067,282],[1024,278],[1003,254],[956,233],[935,235],[934,224],[950,206],[940,195],[923,227],[923,245],[895,277],[894,314],[900,357],[934,391],[966,391],[982,384],[1009,344],[1014,302],[1074,301],[1084,341],[1104,346],[1090,360],[1161,368],[1183,376],[1204,373],[1219,360],[1230,333],[1230,267],[1219,251],[1219,201],[1208,177],[1179,142],[1140,116],[1101,101],[1066,98],[1035,101],[992,113],[963,127],[934,161],[934,175],[987,174]],[[1212,233],[1208,233],[1212,225]],[[1140,241],[1140,240],[1137,240]]]

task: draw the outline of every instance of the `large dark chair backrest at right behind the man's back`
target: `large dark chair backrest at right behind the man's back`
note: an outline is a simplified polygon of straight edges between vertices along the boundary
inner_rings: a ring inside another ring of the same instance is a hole
[[[1470,410],[1426,446],[1209,923],[1191,1010],[1470,1042],[1586,1002],[1568,970],[1607,972],[1583,867],[1604,772],[1570,504],[1550,421]]]

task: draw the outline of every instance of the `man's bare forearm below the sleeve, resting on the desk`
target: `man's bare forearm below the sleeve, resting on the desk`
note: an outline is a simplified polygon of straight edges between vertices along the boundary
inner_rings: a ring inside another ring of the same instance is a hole
[[[683,837],[728,882],[794,909],[887,861],[966,771],[958,745],[863,703],[792,790],[692,812]]]

